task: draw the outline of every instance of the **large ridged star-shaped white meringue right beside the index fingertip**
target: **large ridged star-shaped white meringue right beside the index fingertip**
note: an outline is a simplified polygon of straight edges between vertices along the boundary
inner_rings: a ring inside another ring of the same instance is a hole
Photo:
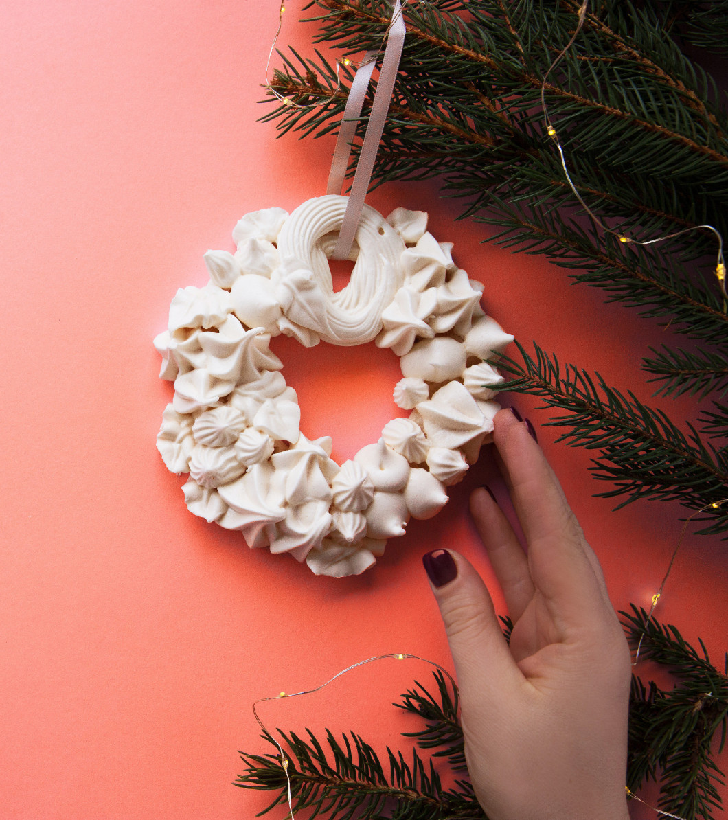
[[[475,399],[458,381],[450,381],[426,402],[417,405],[425,433],[435,447],[455,449],[493,430],[493,418],[486,418]]]

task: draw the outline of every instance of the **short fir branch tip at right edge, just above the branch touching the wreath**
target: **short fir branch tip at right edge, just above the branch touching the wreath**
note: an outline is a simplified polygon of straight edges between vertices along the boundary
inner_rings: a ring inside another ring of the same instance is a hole
[[[708,394],[724,394],[728,389],[728,356],[700,350],[690,353],[679,348],[671,350],[662,345],[662,351],[650,348],[655,358],[643,360],[643,370],[654,374],[648,381],[662,381],[655,395],[680,396],[687,393],[703,399]]]

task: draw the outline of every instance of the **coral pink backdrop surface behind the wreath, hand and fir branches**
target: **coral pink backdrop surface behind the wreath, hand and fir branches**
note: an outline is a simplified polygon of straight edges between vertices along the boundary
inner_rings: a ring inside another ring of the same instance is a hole
[[[284,41],[307,48],[311,30]],[[0,818],[247,818],[264,799],[230,786],[236,749],[265,750],[250,704],[315,686],[382,652],[449,665],[421,555],[451,545],[490,576],[466,498],[493,482],[484,453],[448,508],[412,522],[364,576],[316,578],[286,556],[247,549],[184,507],[182,481],[154,447],[171,385],[152,337],[175,289],[206,280],[202,253],[260,207],[322,194],[332,143],[275,141],[256,122],[277,3],[4,4],[2,278],[3,526],[0,540]],[[289,34],[290,33],[290,34]],[[648,344],[667,338],[602,303],[538,257],[481,246],[430,185],[389,185],[370,203],[430,212],[485,307],[525,343],[607,382],[650,390]],[[288,339],[274,348],[307,435],[344,459],[398,408],[397,360],[374,345]],[[345,396],[341,376],[351,375]],[[535,402],[517,399],[538,426]],[[694,418],[689,399],[664,401]],[[594,499],[583,451],[539,439],[602,560],[614,603],[648,605],[679,534],[680,508]],[[658,615],[714,661],[726,649],[728,558],[688,536]],[[498,605],[503,611],[502,604]],[[271,725],[357,728],[398,743],[387,704],[421,665],[371,665],[317,699],[266,705]],[[289,709],[290,711],[284,711]],[[407,724],[408,726],[408,724]],[[723,757],[724,768],[728,763]],[[280,812],[276,816],[281,817]]]

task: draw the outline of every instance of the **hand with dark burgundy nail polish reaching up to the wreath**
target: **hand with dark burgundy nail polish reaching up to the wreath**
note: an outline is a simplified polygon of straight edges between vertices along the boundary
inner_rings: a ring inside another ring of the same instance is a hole
[[[490,820],[624,820],[630,653],[556,476],[526,423],[495,417],[494,443],[528,552],[483,489],[471,496],[513,622],[510,645],[462,555],[425,569],[457,672],[465,754]]]

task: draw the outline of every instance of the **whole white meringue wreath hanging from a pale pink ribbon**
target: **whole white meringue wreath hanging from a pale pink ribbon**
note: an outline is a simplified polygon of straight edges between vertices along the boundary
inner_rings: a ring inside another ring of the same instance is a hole
[[[157,448],[172,472],[189,474],[190,511],[337,577],[371,567],[410,517],[444,507],[445,487],[475,462],[499,409],[503,378],[485,360],[512,341],[424,212],[397,208],[385,221],[365,206],[350,284],[334,294],[326,254],[346,202],[243,216],[236,253],[205,254],[210,281],[177,291],[154,339],[160,376],[175,383]],[[306,346],[392,348],[403,373],[394,400],[409,417],[339,467],[328,436],[299,429],[296,392],[269,348],[280,333]]]

